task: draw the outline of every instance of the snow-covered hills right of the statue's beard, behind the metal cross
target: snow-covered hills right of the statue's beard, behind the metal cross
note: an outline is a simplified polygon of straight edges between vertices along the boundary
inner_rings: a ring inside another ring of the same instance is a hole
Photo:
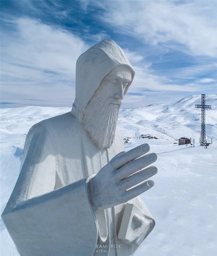
[[[191,95],[170,105],[152,104],[137,109],[120,111],[119,125],[124,136],[139,137],[149,134],[160,139],[179,139],[189,137],[199,140],[201,128],[201,95]],[[206,110],[206,135],[217,139],[217,95],[207,95],[206,104],[212,105]]]

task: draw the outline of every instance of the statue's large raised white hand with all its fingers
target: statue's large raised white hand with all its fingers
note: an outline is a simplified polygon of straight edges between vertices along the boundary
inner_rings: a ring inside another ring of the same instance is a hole
[[[123,204],[153,187],[152,180],[141,183],[158,172],[155,166],[144,169],[157,160],[155,153],[146,154],[149,150],[149,145],[143,144],[119,153],[90,180],[89,193],[95,209]]]

